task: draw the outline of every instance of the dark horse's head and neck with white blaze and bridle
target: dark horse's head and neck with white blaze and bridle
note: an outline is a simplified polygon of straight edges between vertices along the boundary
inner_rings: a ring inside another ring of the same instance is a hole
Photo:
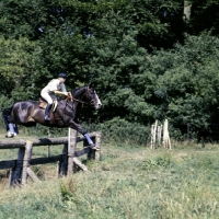
[[[95,110],[99,110],[102,106],[102,103],[92,84],[77,90],[72,93],[72,96],[79,102],[91,104]]]

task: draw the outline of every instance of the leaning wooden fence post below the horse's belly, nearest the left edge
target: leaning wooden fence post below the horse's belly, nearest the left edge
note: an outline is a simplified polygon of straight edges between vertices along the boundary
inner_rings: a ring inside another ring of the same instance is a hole
[[[26,184],[26,181],[27,181],[27,168],[30,164],[31,155],[32,155],[32,149],[33,149],[33,142],[27,140],[25,145],[25,153],[24,153],[24,160],[23,160],[23,170],[22,170],[22,178],[21,178],[22,185]]]

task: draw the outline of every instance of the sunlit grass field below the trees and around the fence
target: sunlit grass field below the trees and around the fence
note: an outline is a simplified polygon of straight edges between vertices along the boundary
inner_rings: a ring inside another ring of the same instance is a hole
[[[61,147],[51,147],[51,154]],[[1,150],[0,160],[15,159]],[[46,147],[34,155],[47,154]],[[56,163],[33,166],[42,182],[7,188],[1,171],[0,218],[169,219],[219,218],[219,146],[175,143],[173,149],[102,143],[89,172],[56,177]]]

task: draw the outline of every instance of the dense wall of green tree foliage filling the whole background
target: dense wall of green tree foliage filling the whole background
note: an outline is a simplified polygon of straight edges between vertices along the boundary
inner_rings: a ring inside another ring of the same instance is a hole
[[[65,71],[69,90],[96,82],[101,122],[217,122],[218,2],[187,2],[189,21],[184,1],[2,0],[1,94],[38,100]]]

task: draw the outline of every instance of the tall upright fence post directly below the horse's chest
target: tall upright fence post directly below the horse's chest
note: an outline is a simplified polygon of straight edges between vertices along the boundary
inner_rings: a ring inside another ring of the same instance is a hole
[[[68,175],[73,173],[73,155],[77,145],[77,130],[69,128],[68,134]]]

